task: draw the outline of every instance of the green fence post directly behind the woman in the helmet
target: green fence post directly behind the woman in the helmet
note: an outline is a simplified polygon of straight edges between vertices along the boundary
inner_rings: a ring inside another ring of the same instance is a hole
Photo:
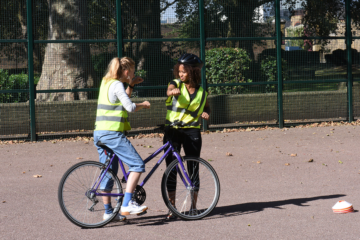
[[[200,14],[200,58],[205,63],[205,20],[204,20],[204,0],[199,0],[199,14]],[[201,69],[201,84],[205,91],[207,91],[207,82],[206,82],[206,65]],[[203,130],[208,130],[207,121],[203,119]]]

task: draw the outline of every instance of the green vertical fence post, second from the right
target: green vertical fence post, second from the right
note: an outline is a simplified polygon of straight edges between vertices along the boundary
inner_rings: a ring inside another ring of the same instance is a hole
[[[276,0],[276,49],[278,50],[278,114],[279,114],[279,128],[284,128],[283,115],[283,69],[281,56],[281,26],[280,26],[280,0]]]

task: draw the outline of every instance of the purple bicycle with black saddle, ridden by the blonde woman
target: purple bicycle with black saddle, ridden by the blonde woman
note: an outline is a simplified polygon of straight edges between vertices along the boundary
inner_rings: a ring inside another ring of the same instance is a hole
[[[157,129],[161,129],[164,134],[167,134],[167,131],[174,127],[176,128],[176,123],[162,125]],[[167,137],[167,139],[170,138]],[[112,152],[111,149],[105,145],[103,148],[105,154],[109,156],[105,164],[95,161],[79,162],[65,172],[59,184],[58,200],[62,212],[72,223],[83,228],[105,226],[116,217],[122,204],[124,188],[121,184],[126,183],[129,172],[126,172],[123,162],[116,154],[109,154]],[[149,162],[164,149],[167,150],[162,157],[144,180],[136,186],[132,199],[140,205],[145,202],[146,193],[143,186],[165,160],[165,157],[172,154],[174,161],[166,168],[161,182],[161,193],[167,208],[183,220],[198,220],[207,216],[215,208],[220,196],[220,182],[215,170],[202,158],[181,157],[176,151],[176,145],[171,140],[146,158],[144,162]],[[123,174],[121,181],[110,168],[113,161],[120,163]],[[110,180],[111,187],[100,188],[100,183],[104,178]],[[174,202],[169,200],[169,194],[174,194],[174,196],[176,194],[176,207],[172,205]],[[103,196],[111,198],[113,208],[112,215],[106,220],[103,219],[105,212]]]

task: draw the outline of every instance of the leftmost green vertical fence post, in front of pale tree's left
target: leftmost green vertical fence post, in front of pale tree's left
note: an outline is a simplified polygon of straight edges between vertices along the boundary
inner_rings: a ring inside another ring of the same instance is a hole
[[[33,55],[33,35],[32,35],[32,0],[26,1],[27,10],[27,39],[28,39],[28,78],[30,91],[30,137],[31,141],[36,141],[36,121],[35,121],[35,84],[34,84],[34,55]]]

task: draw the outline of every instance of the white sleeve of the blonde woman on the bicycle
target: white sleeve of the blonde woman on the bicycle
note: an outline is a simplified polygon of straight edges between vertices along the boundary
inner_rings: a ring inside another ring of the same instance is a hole
[[[122,106],[124,106],[128,112],[134,112],[136,109],[135,103],[133,103],[129,96],[127,96],[124,84],[120,81],[114,81],[110,84],[108,97],[109,101],[113,104],[121,102]]]

